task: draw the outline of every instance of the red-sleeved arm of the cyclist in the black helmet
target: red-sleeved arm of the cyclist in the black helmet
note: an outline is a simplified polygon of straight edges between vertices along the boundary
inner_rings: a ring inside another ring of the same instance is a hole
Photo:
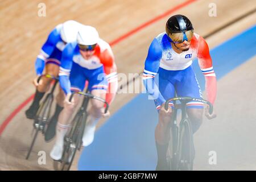
[[[202,37],[199,39],[197,57],[201,72],[205,76],[205,90],[207,92],[207,99],[210,103],[214,104],[217,93],[216,75],[213,70],[212,58],[210,57],[208,44]]]

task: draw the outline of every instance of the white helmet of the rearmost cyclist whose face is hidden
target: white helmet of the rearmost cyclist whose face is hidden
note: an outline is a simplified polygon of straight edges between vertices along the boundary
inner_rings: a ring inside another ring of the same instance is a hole
[[[79,27],[81,27],[81,23],[76,22],[75,20],[64,22],[60,29],[61,39],[66,43],[75,42]]]

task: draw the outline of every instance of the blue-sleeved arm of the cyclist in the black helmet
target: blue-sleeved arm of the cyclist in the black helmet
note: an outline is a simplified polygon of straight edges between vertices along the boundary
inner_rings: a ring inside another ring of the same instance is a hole
[[[159,88],[156,85],[154,78],[158,72],[161,57],[162,48],[158,41],[154,39],[148,49],[144,65],[143,83],[150,96],[152,96],[160,105],[162,105],[166,100],[164,100],[162,94],[159,92]]]

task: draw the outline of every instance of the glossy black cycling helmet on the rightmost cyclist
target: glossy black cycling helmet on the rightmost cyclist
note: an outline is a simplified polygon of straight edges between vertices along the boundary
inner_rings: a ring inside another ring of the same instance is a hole
[[[184,15],[174,15],[166,22],[166,34],[174,34],[185,31],[193,31],[191,21]]]

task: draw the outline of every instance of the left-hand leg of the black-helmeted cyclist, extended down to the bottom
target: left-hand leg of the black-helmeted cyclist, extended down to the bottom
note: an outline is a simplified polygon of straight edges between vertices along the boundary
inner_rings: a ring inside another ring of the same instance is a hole
[[[161,72],[159,73],[161,74]],[[156,83],[159,82],[159,91],[165,100],[174,97],[175,89],[174,85],[168,80],[167,77],[156,76]],[[160,109],[160,105],[155,101],[156,109]],[[172,106],[172,103],[170,103]],[[170,126],[171,115],[166,117],[163,113],[159,112],[159,121],[155,128],[155,143],[156,151],[158,153],[158,164],[156,170],[167,170],[166,154],[168,150],[168,143],[170,140]]]

